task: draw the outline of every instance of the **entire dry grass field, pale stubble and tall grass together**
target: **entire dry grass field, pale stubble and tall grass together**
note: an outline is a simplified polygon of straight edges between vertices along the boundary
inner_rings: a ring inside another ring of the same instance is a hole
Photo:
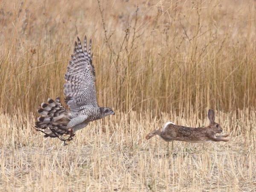
[[[116,115],[63,146],[36,110],[84,35]],[[0,191],[256,191],[255,61],[254,0],[0,0]],[[209,108],[229,142],[145,140]]]

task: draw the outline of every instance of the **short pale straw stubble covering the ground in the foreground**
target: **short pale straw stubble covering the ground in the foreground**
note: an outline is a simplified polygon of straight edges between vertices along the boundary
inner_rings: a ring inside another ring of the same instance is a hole
[[[36,133],[33,116],[2,115],[0,191],[255,190],[254,112],[217,114],[231,133],[229,142],[174,142],[169,155],[166,142],[159,137],[145,140],[145,134],[169,119],[192,126],[208,120],[161,115],[156,119],[148,113],[118,112],[79,131],[66,147]]]

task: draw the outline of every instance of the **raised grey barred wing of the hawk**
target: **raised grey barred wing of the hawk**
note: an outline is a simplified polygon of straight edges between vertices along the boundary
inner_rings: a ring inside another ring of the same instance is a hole
[[[81,106],[97,106],[95,89],[95,68],[92,64],[91,40],[87,50],[87,39],[84,37],[84,50],[81,41],[77,38],[74,54],[65,73],[64,94],[67,105],[73,112],[79,111]]]

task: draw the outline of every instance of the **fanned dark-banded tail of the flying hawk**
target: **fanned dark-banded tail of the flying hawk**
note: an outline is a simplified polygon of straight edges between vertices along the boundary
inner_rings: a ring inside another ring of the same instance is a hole
[[[35,123],[35,128],[43,132],[44,137],[58,137],[64,134],[70,135],[70,131],[66,129],[67,123],[70,121],[70,111],[65,109],[60,102],[59,97],[55,100],[48,99],[48,103],[42,103],[38,109],[41,115]]]

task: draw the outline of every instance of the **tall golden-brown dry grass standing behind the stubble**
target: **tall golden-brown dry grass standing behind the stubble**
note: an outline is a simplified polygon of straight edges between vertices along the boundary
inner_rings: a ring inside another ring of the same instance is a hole
[[[67,62],[84,35],[93,39],[101,105],[155,114],[256,106],[253,0],[0,5],[4,112],[35,112],[48,97],[64,98]]]

